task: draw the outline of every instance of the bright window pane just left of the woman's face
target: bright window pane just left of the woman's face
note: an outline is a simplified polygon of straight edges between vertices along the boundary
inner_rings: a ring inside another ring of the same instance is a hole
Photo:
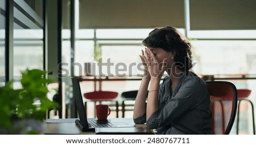
[[[121,48],[121,49],[120,49]],[[104,76],[139,76],[143,75],[142,63],[139,55],[143,46],[127,44],[102,45],[102,62],[110,62],[108,66],[102,66]],[[114,52],[114,53],[113,53]],[[118,55],[117,55],[118,54]],[[110,70],[109,70],[110,69]]]

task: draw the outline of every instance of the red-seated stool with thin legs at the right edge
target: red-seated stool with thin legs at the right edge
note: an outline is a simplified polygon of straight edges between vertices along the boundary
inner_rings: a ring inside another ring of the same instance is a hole
[[[253,114],[253,134],[255,135],[255,122],[254,122],[254,108],[253,108],[253,102],[247,99],[251,94],[251,90],[249,89],[238,89],[237,90],[237,97],[238,97],[238,108],[237,108],[237,134],[239,130],[239,116],[240,116],[240,104],[242,101],[247,101],[251,104],[251,111]]]

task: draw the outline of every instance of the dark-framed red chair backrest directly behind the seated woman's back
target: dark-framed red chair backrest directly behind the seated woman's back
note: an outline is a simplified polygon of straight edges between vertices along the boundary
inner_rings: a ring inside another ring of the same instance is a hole
[[[212,111],[212,134],[229,134],[237,113],[237,89],[229,81],[207,81]]]

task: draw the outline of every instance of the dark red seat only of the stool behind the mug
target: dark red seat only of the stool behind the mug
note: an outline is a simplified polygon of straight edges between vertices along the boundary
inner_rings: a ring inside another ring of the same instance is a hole
[[[84,93],[84,97],[88,100],[113,100],[117,98],[118,93],[113,91],[93,91]]]

